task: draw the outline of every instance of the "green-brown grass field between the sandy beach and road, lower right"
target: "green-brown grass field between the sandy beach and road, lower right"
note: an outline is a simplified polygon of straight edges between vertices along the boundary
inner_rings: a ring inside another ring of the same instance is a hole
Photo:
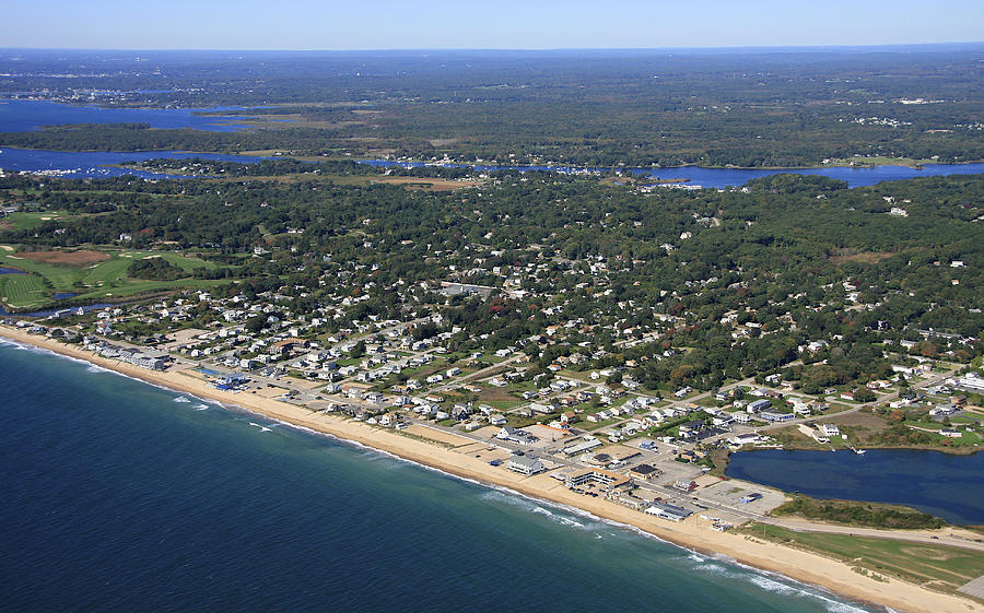
[[[746,530],[749,535],[761,538],[762,528],[761,523],[751,523]],[[775,526],[766,527],[764,537],[851,561],[853,566],[877,574],[933,583],[945,590],[956,590],[984,575],[984,554],[973,550],[850,534],[794,532]]]

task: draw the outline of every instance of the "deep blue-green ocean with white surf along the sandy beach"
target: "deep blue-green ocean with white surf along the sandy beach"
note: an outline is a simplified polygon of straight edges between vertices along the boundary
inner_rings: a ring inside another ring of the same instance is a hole
[[[0,611],[875,611],[0,341]]]

